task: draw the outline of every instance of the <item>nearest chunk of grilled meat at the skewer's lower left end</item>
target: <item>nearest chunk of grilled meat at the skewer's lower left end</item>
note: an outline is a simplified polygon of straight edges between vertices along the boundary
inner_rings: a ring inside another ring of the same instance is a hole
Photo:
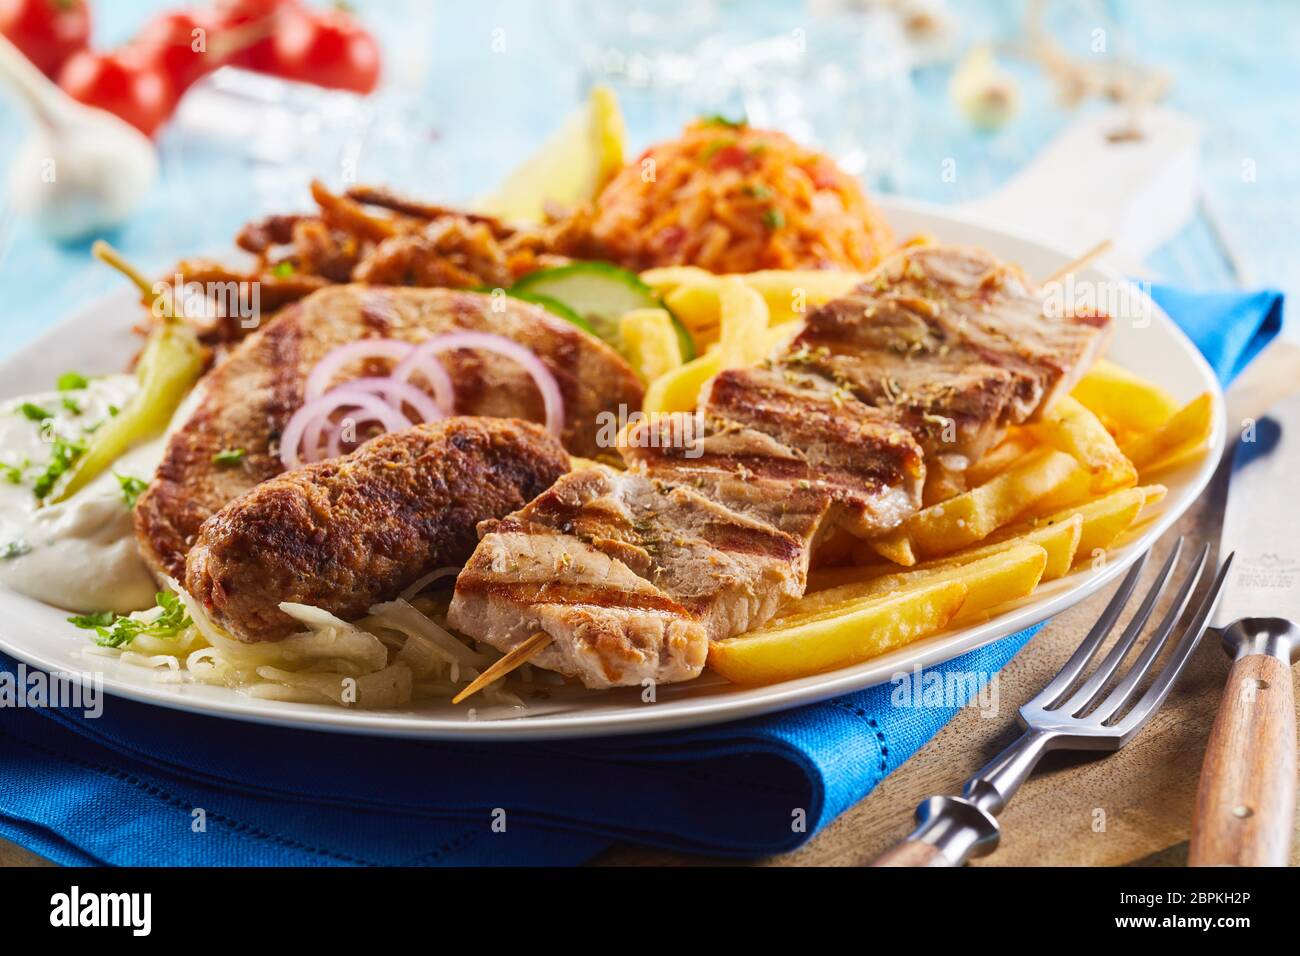
[[[688,488],[604,466],[560,479],[486,533],[448,622],[508,650],[555,640],[542,667],[588,687],[688,680],[708,640],[803,593],[798,538]]]

